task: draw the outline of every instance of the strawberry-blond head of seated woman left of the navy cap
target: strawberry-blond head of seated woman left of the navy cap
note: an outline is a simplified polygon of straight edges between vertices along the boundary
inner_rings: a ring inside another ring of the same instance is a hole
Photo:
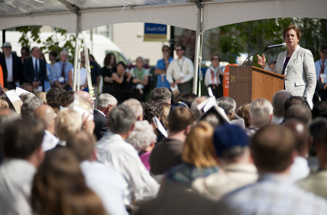
[[[197,168],[218,166],[213,145],[214,128],[207,122],[198,122],[188,133],[182,160]]]

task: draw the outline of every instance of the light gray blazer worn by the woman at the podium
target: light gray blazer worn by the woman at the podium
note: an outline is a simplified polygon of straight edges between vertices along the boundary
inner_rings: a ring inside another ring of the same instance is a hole
[[[282,74],[287,50],[281,52],[277,57],[276,67],[273,72]],[[271,71],[268,64],[264,68]],[[285,69],[285,89],[294,96],[304,96],[312,100],[316,88],[316,72],[313,56],[310,50],[298,45]]]

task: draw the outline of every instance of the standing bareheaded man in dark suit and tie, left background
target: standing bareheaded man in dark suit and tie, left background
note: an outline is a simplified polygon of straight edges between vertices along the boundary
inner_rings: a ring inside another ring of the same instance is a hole
[[[39,59],[40,55],[41,50],[38,47],[33,47],[32,57],[24,60],[24,82],[31,83],[34,90],[38,90],[39,86],[43,86],[47,77],[46,62]]]

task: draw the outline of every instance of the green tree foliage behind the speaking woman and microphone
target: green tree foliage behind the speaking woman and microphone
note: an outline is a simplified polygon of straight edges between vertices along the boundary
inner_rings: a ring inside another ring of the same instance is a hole
[[[327,20],[311,18],[265,19],[236,23],[209,30],[210,40],[205,45],[211,52],[221,53],[223,59],[235,63],[240,53],[254,53],[267,45],[284,41],[282,30],[289,24],[295,24],[302,30],[300,45],[312,51],[314,59],[319,59],[319,47],[327,44]],[[217,33],[218,32],[218,33]],[[277,58],[278,53],[286,48],[274,48],[263,52],[267,61]],[[262,55],[262,53],[260,53]],[[254,66],[258,66],[254,56]]]

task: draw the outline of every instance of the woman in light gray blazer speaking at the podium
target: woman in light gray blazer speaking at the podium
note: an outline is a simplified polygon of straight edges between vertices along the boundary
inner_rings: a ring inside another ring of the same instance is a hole
[[[295,25],[288,25],[283,30],[283,37],[288,50],[277,57],[273,72],[284,74],[284,88],[294,96],[306,97],[312,101],[316,87],[316,72],[313,56],[310,50],[300,47],[301,30]],[[258,64],[265,70],[271,71],[263,55],[258,55]]]

